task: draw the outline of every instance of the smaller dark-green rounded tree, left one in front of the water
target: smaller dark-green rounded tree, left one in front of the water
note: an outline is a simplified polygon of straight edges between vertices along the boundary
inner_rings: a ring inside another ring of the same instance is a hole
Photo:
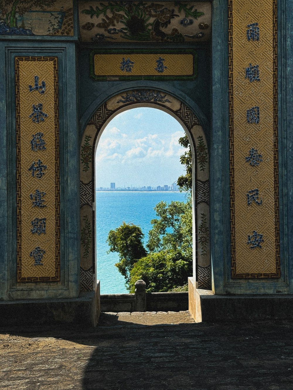
[[[147,255],[143,246],[143,237],[144,234],[139,226],[124,221],[117,229],[110,230],[108,233],[107,243],[110,247],[108,253],[118,252],[119,262],[115,266],[125,277],[127,284],[134,263]]]

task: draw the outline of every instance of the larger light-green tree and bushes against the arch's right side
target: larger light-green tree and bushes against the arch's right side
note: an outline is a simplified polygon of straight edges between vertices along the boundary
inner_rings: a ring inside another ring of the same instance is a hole
[[[186,203],[161,201],[154,209],[159,218],[151,220],[149,253],[130,270],[130,292],[134,292],[138,279],[146,282],[149,293],[178,289],[192,274],[191,195]]]

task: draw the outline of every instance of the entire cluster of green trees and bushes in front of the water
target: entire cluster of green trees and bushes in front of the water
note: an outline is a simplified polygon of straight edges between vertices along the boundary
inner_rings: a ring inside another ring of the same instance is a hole
[[[186,203],[159,202],[155,211],[159,218],[151,221],[148,253],[139,226],[123,222],[108,234],[109,252],[118,252],[115,266],[130,292],[134,292],[138,279],[146,282],[147,292],[178,289],[192,274],[191,196]]]

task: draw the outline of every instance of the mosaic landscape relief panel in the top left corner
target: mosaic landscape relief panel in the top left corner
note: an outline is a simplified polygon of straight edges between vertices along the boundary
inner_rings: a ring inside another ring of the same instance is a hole
[[[0,2],[1,35],[73,35],[72,0]]]

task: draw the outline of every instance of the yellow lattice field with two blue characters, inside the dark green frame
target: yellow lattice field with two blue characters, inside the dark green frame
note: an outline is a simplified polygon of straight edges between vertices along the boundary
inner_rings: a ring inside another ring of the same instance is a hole
[[[193,74],[192,54],[96,54],[96,76],[187,76]]]

